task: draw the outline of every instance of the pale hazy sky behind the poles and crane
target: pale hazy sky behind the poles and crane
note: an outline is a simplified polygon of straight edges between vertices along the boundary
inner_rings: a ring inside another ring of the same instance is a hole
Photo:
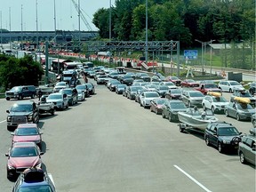
[[[74,2],[78,4],[78,0],[74,0]],[[108,8],[110,2],[113,5],[114,0],[80,0],[80,29],[84,31],[90,28],[98,30],[92,24],[93,14],[100,8]],[[11,31],[20,31],[21,28],[23,31],[36,31],[36,26],[39,31],[54,31],[55,29],[54,0],[0,0],[0,4],[0,28],[2,24],[2,28],[8,30],[11,28]],[[56,29],[78,30],[78,12],[72,0],[55,0],[55,4]],[[84,24],[82,14],[90,28]]]

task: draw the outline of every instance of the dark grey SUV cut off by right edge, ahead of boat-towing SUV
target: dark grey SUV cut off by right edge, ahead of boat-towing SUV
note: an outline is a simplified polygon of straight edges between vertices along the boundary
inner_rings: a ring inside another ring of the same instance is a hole
[[[256,156],[256,128],[250,130],[249,135],[244,135],[242,141],[239,143],[238,155],[240,156],[240,162],[242,164],[251,163],[255,165],[255,156]]]

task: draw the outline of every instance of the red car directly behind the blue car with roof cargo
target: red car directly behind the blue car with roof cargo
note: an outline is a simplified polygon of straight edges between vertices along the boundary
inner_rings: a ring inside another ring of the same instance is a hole
[[[8,156],[6,170],[7,178],[12,179],[29,167],[41,168],[42,160],[40,148],[35,142],[16,142],[12,144]]]

